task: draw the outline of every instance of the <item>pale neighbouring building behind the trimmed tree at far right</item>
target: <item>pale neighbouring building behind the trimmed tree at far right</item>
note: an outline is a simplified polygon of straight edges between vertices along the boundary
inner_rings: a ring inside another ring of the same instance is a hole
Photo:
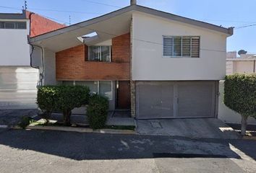
[[[236,57],[236,51],[226,56],[226,74],[256,74],[256,55],[242,54]]]

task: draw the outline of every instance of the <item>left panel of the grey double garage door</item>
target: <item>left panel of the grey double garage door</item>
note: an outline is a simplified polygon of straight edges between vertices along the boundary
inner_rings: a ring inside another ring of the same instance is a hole
[[[136,86],[137,117],[174,117],[174,84],[165,81],[141,81]]]

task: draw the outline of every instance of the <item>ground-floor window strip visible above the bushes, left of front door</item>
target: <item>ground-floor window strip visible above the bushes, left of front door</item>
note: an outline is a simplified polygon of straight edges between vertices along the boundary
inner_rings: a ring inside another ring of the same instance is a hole
[[[63,81],[65,85],[82,85],[90,88],[91,94],[100,94],[113,99],[112,81]]]

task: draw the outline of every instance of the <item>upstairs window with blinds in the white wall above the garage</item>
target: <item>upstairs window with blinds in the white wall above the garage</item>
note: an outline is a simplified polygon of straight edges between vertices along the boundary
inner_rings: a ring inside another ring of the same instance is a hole
[[[163,56],[199,58],[200,37],[163,36]]]

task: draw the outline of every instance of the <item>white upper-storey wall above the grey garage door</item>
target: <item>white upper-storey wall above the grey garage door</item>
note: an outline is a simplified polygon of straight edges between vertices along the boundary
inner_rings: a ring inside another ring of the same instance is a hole
[[[213,30],[135,12],[133,80],[220,80],[226,74],[226,37]],[[164,58],[163,35],[200,36],[200,58]]]

